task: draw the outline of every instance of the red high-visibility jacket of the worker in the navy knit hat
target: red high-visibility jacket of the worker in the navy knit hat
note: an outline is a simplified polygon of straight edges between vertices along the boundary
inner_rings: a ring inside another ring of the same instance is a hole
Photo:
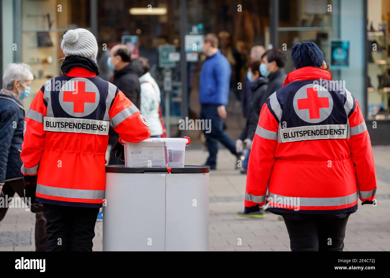
[[[249,157],[245,206],[342,213],[372,201],[376,174],[358,102],[321,68],[287,75],[263,105]]]

